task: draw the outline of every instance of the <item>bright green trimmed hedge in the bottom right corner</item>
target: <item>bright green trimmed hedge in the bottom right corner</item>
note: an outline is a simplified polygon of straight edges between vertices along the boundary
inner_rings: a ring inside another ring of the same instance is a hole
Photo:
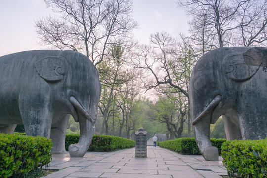
[[[267,178],[267,138],[226,141],[222,157],[230,177]]]

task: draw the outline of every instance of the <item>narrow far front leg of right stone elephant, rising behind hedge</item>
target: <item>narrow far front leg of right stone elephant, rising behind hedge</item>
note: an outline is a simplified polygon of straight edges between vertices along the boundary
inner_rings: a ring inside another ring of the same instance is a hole
[[[223,123],[227,140],[242,139],[237,113],[232,113],[231,116],[223,115]]]

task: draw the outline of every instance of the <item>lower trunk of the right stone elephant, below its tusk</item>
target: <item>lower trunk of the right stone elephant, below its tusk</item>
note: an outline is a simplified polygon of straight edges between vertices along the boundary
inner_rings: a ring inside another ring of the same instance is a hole
[[[207,161],[218,161],[218,148],[211,145],[210,140],[210,114],[193,125],[195,138],[202,156]]]

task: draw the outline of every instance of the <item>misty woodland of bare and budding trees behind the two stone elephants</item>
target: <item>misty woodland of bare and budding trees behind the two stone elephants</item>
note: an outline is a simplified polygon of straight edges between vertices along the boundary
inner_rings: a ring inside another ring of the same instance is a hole
[[[45,4],[56,15],[35,21],[39,43],[81,52],[98,69],[102,93],[95,134],[134,139],[143,127],[148,137],[192,137],[188,87],[199,58],[219,47],[267,45],[266,0],[177,0],[174,5],[190,16],[188,32],[174,36],[151,29],[146,44],[133,33],[133,0]],[[79,134],[73,118],[67,134]],[[211,137],[225,137],[222,118],[211,126]]]

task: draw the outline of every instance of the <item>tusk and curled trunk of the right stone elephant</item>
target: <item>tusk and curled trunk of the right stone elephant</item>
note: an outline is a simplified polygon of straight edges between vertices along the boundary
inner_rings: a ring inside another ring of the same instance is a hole
[[[210,123],[213,109],[221,101],[222,96],[217,95],[209,105],[197,117],[193,114],[192,125],[195,132],[197,146],[208,161],[218,161],[218,148],[211,145],[210,141]]]

